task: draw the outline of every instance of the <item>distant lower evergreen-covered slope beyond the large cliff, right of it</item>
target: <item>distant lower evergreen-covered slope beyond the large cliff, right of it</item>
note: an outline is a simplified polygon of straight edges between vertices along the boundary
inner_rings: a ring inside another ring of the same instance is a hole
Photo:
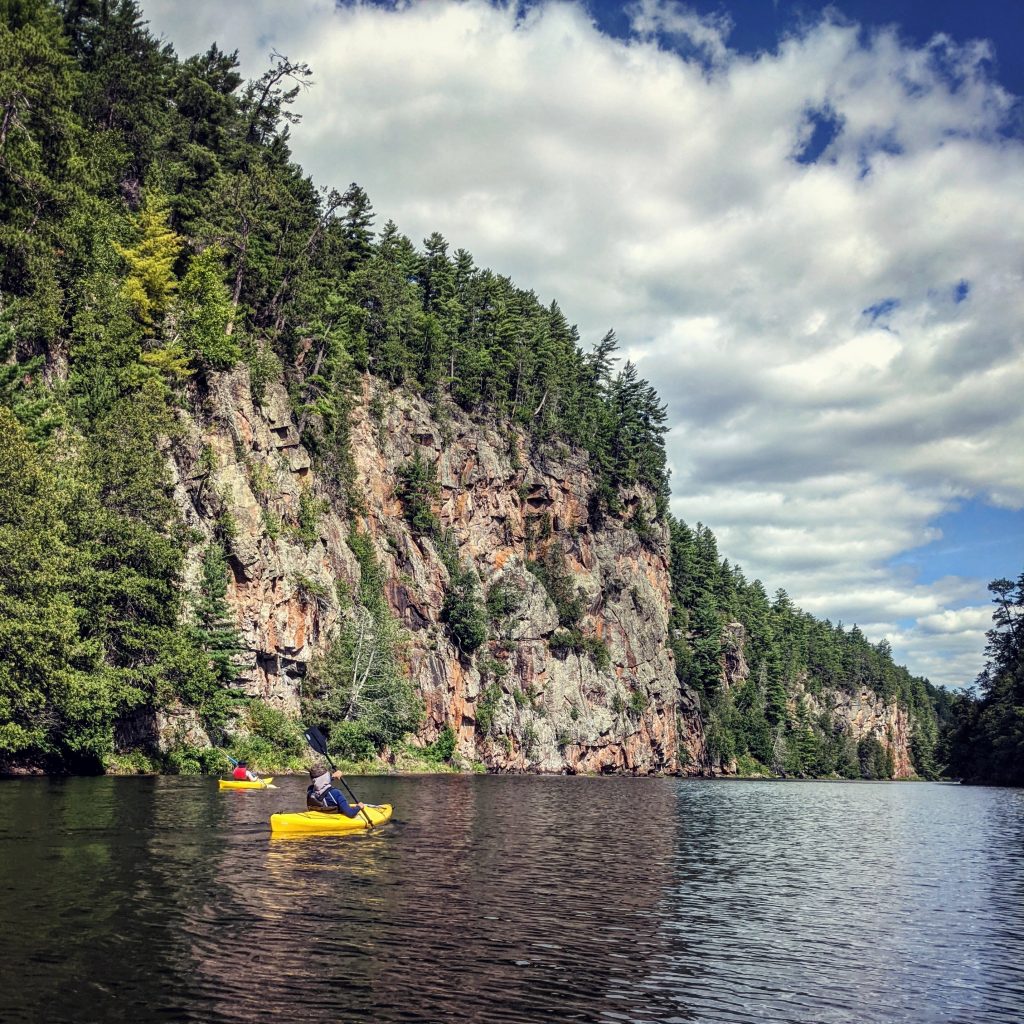
[[[914,769],[936,774],[939,691],[896,666],[885,640],[815,618],[784,590],[769,599],[759,580],[720,558],[699,523],[672,523],[672,588],[677,672],[700,694],[714,758],[738,760],[746,772],[891,778],[891,742],[855,737],[835,714],[842,694],[867,690],[909,712]],[[738,685],[725,685],[723,665],[739,659]]]

